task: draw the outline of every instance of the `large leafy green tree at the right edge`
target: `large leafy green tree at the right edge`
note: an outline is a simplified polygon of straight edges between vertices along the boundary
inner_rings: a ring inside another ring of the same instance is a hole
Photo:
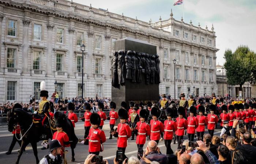
[[[224,54],[224,59],[226,59],[224,68],[226,69],[227,83],[239,85],[240,91],[242,91],[242,85],[245,82],[250,81],[252,83],[256,79],[253,78],[253,72],[256,73],[255,56],[255,53],[247,46],[237,47],[234,53],[230,49],[226,50]],[[242,92],[242,97],[244,97],[243,94],[244,92]]]

